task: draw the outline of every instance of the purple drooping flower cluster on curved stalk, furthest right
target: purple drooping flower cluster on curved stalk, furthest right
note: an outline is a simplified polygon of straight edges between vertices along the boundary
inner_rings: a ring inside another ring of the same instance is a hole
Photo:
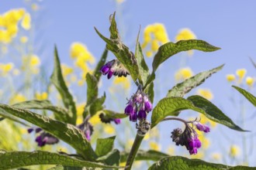
[[[199,131],[204,131],[205,133],[209,132],[208,126],[200,124],[197,121],[188,123],[194,124]],[[185,123],[186,127],[184,131],[182,131],[181,128],[176,128],[174,131],[172,131],[171,138],[176,145],[185,146],[190,155],[195,155],[197,154],[198,148],[201,147],[201,141],[199,141],[198,134],[196,133],[195,129],[193,129],[188,123]]]

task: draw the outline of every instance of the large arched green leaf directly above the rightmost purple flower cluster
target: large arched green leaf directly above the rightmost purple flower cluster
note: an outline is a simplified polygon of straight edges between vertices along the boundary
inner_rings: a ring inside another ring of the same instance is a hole
[[[156,107],[154,107],[151,117],[151,128],[157,125],[167,116],[177,116],[181,110],[195,110],[200,114],[204,114],[210,120],[223,124],[228,128],[236,131],[244,131],[239,126],[227,117],[223,112],[212,104],[209,100],[206,100],[200,96],[191,96],[188,100],[182,97],[165,97],[160,100]]]

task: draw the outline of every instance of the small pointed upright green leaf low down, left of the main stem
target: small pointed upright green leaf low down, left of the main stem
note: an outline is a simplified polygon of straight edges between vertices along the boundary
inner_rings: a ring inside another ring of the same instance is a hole
[[[99,157],[107,155],[112,151],[116,136],[109,138],[98,138],[95,153]]]

